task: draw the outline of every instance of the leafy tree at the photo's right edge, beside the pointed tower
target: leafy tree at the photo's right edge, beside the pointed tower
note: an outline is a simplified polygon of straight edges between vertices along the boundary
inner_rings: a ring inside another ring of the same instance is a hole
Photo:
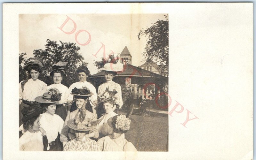
[[[138,40],[141,36],[147,37],[147,44],[143,52],[146,63],[154,61],[159,65],[162,71],[166,71],[164,74],[168,75],[168,44],[169,44],[169,20],[168,15],[164,15],[166,20],[159,20],[153,23],[149,28],[139,31]]]

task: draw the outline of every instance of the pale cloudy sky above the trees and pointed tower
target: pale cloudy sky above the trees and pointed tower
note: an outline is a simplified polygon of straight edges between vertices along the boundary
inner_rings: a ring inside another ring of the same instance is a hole
[[[19,16],[19,53],[26,52],[27,58],[33,57],[33,50],[45,49],[46,40],[62,42],[74,42],[80,46],[80,53],[84,60],[89,63],[88,68],[92,74],[97,73],[93,60],[103,57],[102,44],[105,45],[105,53],[111,50],[120,54],[125,46],[132,55],[132,65],[143,64],[144,48],[146,38],[138,41],[138,33],[142,29],[152,26],[158,19],[165,19],[166,14],[20,14]],[[72,34],[66,34],[74,28],[74,23],[69,20],[62,28],[62,24],[68,18],[76,23],[76,30]],[[58,28],[59,27],[59,28]],[[89,39],[89,34],[80,32],[86,30],[91,35],[91,41],[83,44]],[[96,56],[93,56],[97,53]]]

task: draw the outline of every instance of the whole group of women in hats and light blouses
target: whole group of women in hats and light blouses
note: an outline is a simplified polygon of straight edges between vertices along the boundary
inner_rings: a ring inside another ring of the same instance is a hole
[[[21,151],[137,151],[124,133],[136,126],[132,118],[118,115],[123,105],[121,87],[112,81],[123,64],[105,64],[106,82],[96,92],[86,81],[90,71],[77,68],[79,81],[61,84],[67,62],[52,65],[54,84],[38,79],[44,64],[37,57],[24,64],[28,80],[20,82],[19,109]]]

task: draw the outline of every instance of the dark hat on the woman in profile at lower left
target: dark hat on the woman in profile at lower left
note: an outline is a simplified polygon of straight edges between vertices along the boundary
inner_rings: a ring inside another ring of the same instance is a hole
[[[23,108],[21,110],[21,113],[23,114],[23,118],[21,119],[22,122],[25,122],[33,117],[39,116],[43,110],[44,108],[38,107],[36,105]]]

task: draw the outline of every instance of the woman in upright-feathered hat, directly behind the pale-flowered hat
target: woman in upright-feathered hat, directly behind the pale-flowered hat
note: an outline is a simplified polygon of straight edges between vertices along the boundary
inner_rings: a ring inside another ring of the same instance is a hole
[[[111,135],[113,133],[113,129],[108,126],[108,119],[111,117],[116,116],[117,114],[113,111],[114,110],[114,104],[116,101],[116,95],[117,91],[114,89],[113,91],[109,91],[108,88],[106,88],[105,92],[98,96],[98,104],[102,105],[105,110],[105,114],[100,117],[102,121],[99,124],[99,137],[98,139],[105,137],[107,135]]]

